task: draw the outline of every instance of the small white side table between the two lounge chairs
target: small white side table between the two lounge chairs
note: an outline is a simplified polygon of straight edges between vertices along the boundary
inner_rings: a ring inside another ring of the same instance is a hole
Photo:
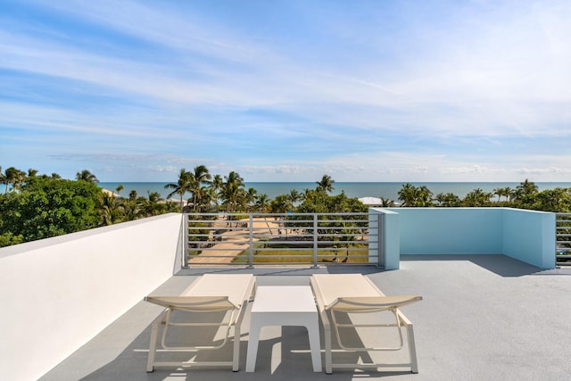
[[[303,326],[310,338],[313,371],[321,369],[319,317],[310,286],[258,286],[252,303],[246,372],[256,368],[261,327]]]

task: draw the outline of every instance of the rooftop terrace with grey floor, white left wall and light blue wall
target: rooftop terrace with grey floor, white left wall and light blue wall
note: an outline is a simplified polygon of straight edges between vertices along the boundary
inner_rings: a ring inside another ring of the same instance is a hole
[[[2,248],[0,375],[58,381],[568,378],[571,269],[554,268],[552,213],[375,212],[386,213],[379,244],[385,247],[385,269],[181,269],[186,228],[175,213]],[[143,297],[178,294],[212,272],[253,273],[262,286],[309,285],[311,274],[360,272],[387,295],[422,295],[422,302],[402,310],[414,324],[419,373],[313,373],[304,328],[271,327],[262,331],[256,372],[246,374],[246,314],[240,372],[156,369],[147,374],[151,323],[161,307]]]

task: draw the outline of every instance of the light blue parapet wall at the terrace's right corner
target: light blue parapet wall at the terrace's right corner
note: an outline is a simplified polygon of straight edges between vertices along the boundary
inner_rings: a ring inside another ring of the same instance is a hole
[[[400,254],[504,254],[542,269],[555,268],[554,213],[509,208],[371,211],[398,213],[385,224],[386,269],[399,268],[395,261]]]

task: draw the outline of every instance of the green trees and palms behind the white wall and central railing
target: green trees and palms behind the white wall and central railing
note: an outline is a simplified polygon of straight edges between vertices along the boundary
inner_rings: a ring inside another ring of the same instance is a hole
[[[205,166],[199,165],[192,171],[180,170],[177,182],[165,185],[171,192],[163,200],[156,192],[145,197],[134,190],[123,197],[122,185],[114,189],[114,195],[105,192],[97,186],[99,180],[89,170],[78,172],[70,180],[56,173],[39,175],[37,170],[10,167],[3,171],[0,167],[0,185],[4,185],[4,193],[0,191],[0,247],[172,211],[282,213],[302,206],[306,199],[319,205],[313,207],[316,210],[359,209],[357,199],[344,194],[327,195],[333,191],[334,182],[324,175],[316,182],[316,189],[303,194],[292,190],[270,200],[252,187],[246,189],[244,178],[235,171],[224,177],[212,176]],[[185,201],[187,194],[191,197]],[[179,203],[170,201],[175,195]],[[304,208],[311,209],[307,205]]]

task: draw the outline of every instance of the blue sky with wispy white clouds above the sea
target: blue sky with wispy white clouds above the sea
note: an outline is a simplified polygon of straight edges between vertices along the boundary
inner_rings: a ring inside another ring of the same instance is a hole
[[[571,2],[0,0],[0,165],[571,181]]]

